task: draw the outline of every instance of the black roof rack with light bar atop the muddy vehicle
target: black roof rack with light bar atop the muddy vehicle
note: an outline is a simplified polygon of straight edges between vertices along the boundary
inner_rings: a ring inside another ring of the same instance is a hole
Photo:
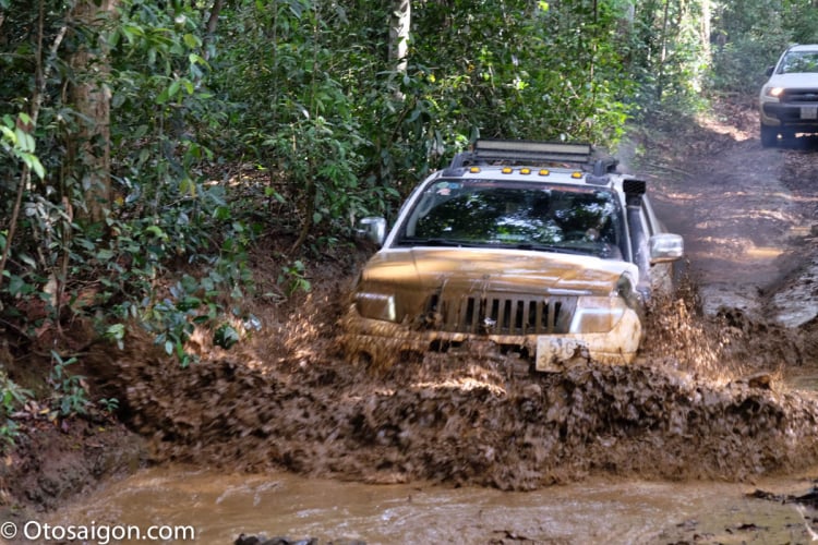
[[[462,152],[452,159],[449,168],[461,168],[480,164],[542,165],[568,162],[592,165],[593,148],[590,144],[565,144],[562,142],[538,142],[525,140],[478,140],[471,152]],[[613,158],[599,159],[593,164],[598,175],[611,172],[616,167]]]

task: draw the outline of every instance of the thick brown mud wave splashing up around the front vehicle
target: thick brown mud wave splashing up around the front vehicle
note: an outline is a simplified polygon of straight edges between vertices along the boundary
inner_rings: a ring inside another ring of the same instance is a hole
[[[655,326],[663,356],[654,348],[639,365],[563,374],[466,352],[375,376],[338,358],[326,308],[339,306],[326,301],[302,307],[297,341],[207,347],[217,355],[190,368],[135,339],[113,361],[110,350],[88,361],[157,462],[531,491],[589,475],[743,481],[818,460],[814,397],[775,374],[737,378],[737,366],[719,365],[725,348],[750,350],[737,347],[751,326],[707,325],[673,305],[676,317]],[[690,363],[691,350],[707,365]]]

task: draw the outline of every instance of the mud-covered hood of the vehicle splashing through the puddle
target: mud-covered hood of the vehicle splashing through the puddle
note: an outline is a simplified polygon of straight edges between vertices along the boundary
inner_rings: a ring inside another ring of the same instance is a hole
[[[467,291],[584,292],[606,295],[623,274],[638,282],[635,265],[588,255],[478,249],[382,250],[366,265],[365,283],[433,290],[443,283]]]

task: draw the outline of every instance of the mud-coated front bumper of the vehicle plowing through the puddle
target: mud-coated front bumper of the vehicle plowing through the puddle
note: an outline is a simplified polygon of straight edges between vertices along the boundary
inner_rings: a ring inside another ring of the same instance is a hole
[[[490,342],[525,349],[533,358],[537,371],[558,372],[588,361],[613,365],[630,363],[642,338],[641,320],[633,310],[625,312],[608,332],[522,336],[413,330],[404,324],[363,318],[351,305],[344,328],[347,356],[353,361],[363,356],[377,367],[394,365],[407,352],[422,354],[448,346]]]

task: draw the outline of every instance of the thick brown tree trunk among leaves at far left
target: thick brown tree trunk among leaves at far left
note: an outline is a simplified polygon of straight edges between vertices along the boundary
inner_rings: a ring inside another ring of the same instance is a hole
[[[118,0],[79,0],[72,12],[76,25],[91,28],[98,36],[103,25],[113,16]],[[80,122],[77,132],[69,143],[71,169],[85,194],[85,219],[97,222],[105,219],[110,208],[110,89],[106,85],[109,66],[105,44],[98,48],[80,44],[71,58],[74,81],[71,100],[86,120]]]

